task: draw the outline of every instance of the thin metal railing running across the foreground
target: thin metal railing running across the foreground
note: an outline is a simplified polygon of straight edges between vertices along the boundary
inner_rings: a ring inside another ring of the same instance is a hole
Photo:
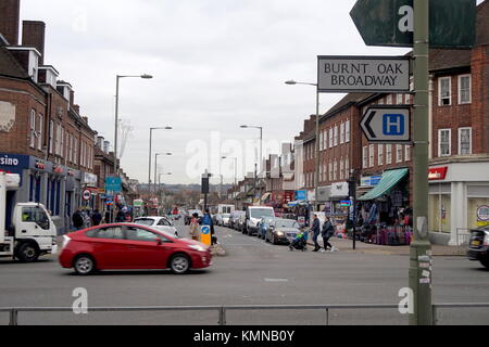
[[[440,308],[489,308],[489,303],[453,303],[434,304],[432,324],[438,323]],[[90,312],[161,312],[161,311],[217,311],[217,325],[226,325],[226,313],[231,310],[324,310],[325,323],[329,325],[330,310],[352,309],[397,309],[399,304],[353,304],[353,305],[251,305],[251,306],[141,306],[141,307],[90,307]],[[0,308],[0,312],[9,312],[9,325],[18,325],[20,312],[73,312],[67,307],[10,307]]]

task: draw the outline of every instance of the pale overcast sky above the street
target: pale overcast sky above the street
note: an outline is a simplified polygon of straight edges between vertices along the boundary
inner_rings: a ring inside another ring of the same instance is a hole
[[[315,89],[284,82],[316,82],[317,55],[408,52],[366,47],[349,16],[354,3],[22,0],[21,18],[46,22],[46,64],[72,83],[83,115],[111,142],[115,76],[153,75],[150,80],[121,80],[120,117],[134,127],[122,167],[147,182],[149,128],[172,126],[174,130],[153,132],[153,150],[174,153],[159,157],[161,171],[173,172],[162,181],[189,183],[199,181],[195,174],[202,168],[192,151],[206,151],[204,167],[215,172],[218,143],[221,151],[234,144],[234,153],[222,155],[240,156],[238,176],[252,170],[253,153],[251,163],[241,158],[253,151],[240,154],[236,147],[244,149],[259,131],[240,129],[242,124],[262,126],[264,141],[293,141],[304,118],[315,113]],[[321,112],[342,95],[322,94]],[[234,181],[233,170],[233,160],[225,160],[226,182]]]

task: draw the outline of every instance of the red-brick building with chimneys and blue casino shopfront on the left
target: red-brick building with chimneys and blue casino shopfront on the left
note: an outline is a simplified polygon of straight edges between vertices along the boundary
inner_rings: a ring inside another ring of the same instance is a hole
[[[45,24],[24,21],[18,44],[18,9],[20,0],[0,4],[0,169],[22,178],[8,209],[42,203],[62,233],[78,206],[93,203],[83,202],[80,192],[98,184],[96,131],[74,104],[72,86],[43,62]]]

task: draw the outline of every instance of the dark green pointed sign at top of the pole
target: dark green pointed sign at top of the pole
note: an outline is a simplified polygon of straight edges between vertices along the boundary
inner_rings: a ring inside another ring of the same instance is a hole
[[[413,47],[413,0],[358,0],[350,12],[367,46]],[[429,47],[472,48],[475,0],[429,0]]]

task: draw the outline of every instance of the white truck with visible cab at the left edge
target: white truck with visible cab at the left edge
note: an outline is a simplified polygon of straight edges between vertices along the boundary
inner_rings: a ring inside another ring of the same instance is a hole
[[[41,255],[57,253],[57,227],[38,203],[16,204],[12,227],[7,226],[7,191],[17,190],[20,181],[18,175],[0,172],[0,257],[34,262]]]

